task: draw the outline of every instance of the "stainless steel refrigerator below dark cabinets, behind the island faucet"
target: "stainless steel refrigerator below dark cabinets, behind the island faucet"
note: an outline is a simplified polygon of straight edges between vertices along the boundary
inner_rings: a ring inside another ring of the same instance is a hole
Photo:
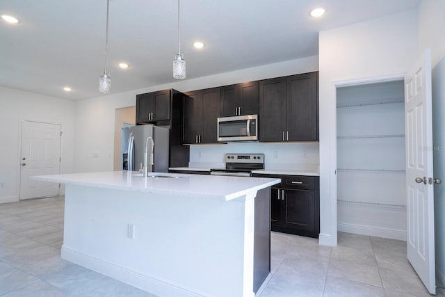
[[[148,141],[148,171],[168,172],[168,139],[170,129],[154,125],[140,125],[122,128],[122,170],[138,171],[144,166],[144,153],[147,138],[152,137],[153,166],[151,165],[150,152],[152,143]]]

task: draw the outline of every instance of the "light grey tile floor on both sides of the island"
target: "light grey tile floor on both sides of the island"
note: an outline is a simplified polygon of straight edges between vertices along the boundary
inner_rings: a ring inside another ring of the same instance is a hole
[[[0,204],[0,296],[154,296],[60,259],[63,205],[63,197]],[[273,232],[271,260],[257,296],[430,296],[404,241],[340,233],[330,248]]]

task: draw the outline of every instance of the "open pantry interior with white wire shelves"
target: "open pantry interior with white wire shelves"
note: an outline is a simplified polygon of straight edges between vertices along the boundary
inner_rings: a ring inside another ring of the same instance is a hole
[[[337,220],[348,233],[406,240],[404,84],[337,88]]]

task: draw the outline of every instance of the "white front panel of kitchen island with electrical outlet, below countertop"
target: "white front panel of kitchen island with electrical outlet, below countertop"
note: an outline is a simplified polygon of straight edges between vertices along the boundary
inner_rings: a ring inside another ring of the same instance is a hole
[[[67,184],[62,257],[160,296],[254,296],[254,195]]]

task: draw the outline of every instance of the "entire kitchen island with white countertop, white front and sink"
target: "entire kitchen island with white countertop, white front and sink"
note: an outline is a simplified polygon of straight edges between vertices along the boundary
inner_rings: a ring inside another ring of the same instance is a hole
[[[159,296],[254,296],[280,179],[137,173],[35,177],[66,184],[61,257]]]

